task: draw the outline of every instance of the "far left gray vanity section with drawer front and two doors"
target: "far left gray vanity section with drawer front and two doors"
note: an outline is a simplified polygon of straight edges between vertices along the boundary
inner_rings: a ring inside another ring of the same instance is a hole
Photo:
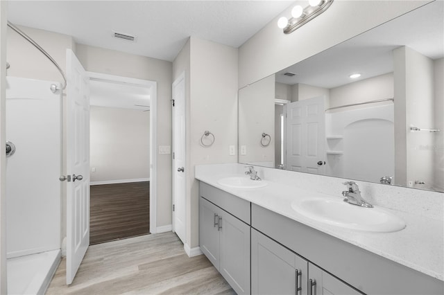
[[[227,194],[219,204],[214,198],[214,195],[219,194],[227,193],[205,184],[200,185],[200,250],[237,294],[250,294],[250,225],[230,214],[230,211],[223,210],[232,206],[236,208],[234,211],[248,208],[248,212],[240,215],[249,221],[250,203]],[[212,199],[215,204],[203,196]],[[230,200],[229,196],[234,199]]]

